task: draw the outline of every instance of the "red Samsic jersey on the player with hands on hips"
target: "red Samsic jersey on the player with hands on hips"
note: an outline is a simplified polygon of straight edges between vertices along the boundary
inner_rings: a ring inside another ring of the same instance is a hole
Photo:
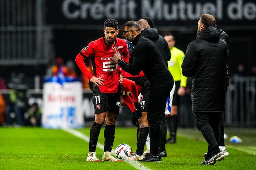
[[[113,61],[114,51],[112,47],[117,47],[122,59],[126,62],[129,61],[129,53],[126,42],[120,38],[116,38],[115,44],[109,46],[104,37],[90,42],[84,47],[81,52],[76,56],[76,63],[87,78],[91,79],[93,76],[102,78],[105,81],[104,85],[99,86],[102,93],[116,93],[119,86],[120,66]],[[91,57],[93,63],[93,75],[88,71],[83,60]],[[124,71],[121,71],[124,76]]]

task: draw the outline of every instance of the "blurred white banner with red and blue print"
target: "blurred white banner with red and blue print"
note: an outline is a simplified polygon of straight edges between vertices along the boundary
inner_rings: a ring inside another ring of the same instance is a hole
[[[46,82],[43,87],[43,128],[82,128],[82,83]]]

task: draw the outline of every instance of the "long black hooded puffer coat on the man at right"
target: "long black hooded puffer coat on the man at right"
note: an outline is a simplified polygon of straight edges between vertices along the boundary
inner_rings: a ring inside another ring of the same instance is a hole
[[[224,112],[228,46],[215,27],[207,27],[189,43],[182,74],[193,76],[192,112]]]

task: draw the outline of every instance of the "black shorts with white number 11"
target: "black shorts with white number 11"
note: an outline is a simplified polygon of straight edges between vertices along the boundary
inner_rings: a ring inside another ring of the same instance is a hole
[[[97,86],[93,86],[93,105],[95,114],[103,112],[112,112],[119,114],[121,105],[121,88],[117,93],[102,93]]]

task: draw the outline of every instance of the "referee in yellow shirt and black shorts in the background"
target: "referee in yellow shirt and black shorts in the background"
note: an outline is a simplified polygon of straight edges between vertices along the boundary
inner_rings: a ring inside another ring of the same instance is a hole
[[[180,96],[184,96],[187,86],[187,77],[182,75],[181,64],[184,59],[184,52],[174,47],[175,38],[172,34],[164,36],[167,41],[172,58],[168,61],[168,69],[173,75],[175,81],[175,91],[173,94],[173,102],[171,103],[171,114],[166,114],[167,127],[170,132],[170,138],[167,139],[167,143],[176,143],[176,133],[178,128],[178,106],[180,104]]]

